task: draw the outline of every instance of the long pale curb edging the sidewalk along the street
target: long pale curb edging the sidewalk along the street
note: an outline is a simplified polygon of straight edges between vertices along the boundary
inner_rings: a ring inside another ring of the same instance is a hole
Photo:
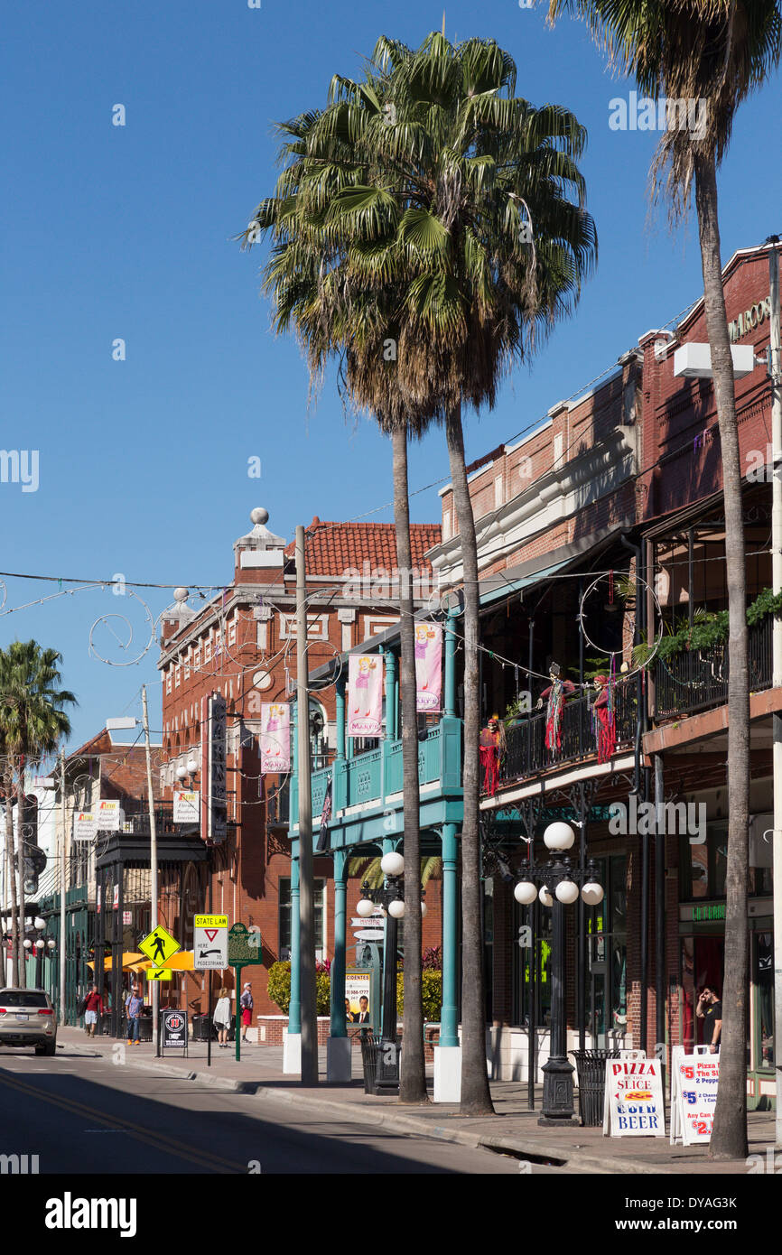
[[[95,1048],[80,1047],[77,1043],[68,1043],[65,1047],[77,1054],[109,1058],[108,1052]],[[230,1077],[215,1077],[208,1072],[186,1072],[183,1068],[167,1063],[158,1063],[152,1059],[133,1059],[132,1065],[144,1072],[156,1072],[158,1076],[178,1077],[193,1081],[197,1084],[212,1086],[232,1093],[244,1093],[256,1098],[276,1099],[286,1102],[291,1107],[303,1104],[311,1111],[320,1111],[325,1116],[336,1116],[341,1121],[360,1124],[377,1124],[399,1133],[413,1133],[417,1137],[431,1137],[441,1142],[456,1142],[459,1146],[468,1146],[473,1150],[511,1151],[515,1155],[528,1155],[532,1162],[552,1162],[560,1167],[572,1167],[582,1172],[601,1175],[635,1175],[635,1176],[672,1176],[675,1170],[641,1163],[639,1161],[616,1158],[601,1155],[582,1155],[580,1151],[564,1151],[559,1147],[549,1147],[541,1142],[528,1142],[521,1137],[505,1137],[491,1133],[471,1133],[462,1128],[446,1128],[442,1124],[431,1126],[428,1119],[415,1116],[403,1116],[397,1111],[383,1111],[378,1107],[364,1107],[362,1104],[330,1101],[320,1096],[310,1096],[295,1089],[276,1089],[262,1082],[232,1081]]]

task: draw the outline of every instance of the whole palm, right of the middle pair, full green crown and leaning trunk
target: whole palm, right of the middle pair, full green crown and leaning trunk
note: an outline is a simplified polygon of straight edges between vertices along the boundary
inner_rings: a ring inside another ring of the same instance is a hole
[[[314,122],[308,147],[329,188],[326,232],[351,237],[351,277],[387,297],[398,393],[446,429],[464,597],[466,1114],[492,1104],[479,929],[478,560],[462,407],[495,403],[502,375],[574,307],[596,257],[576,164],[585,132],[567,110],[535,109],[515,89],[513,60],[492,40],[452,45],[433,33],[412,51],[380,39],[363,83],[334,80],[334,103]],[[388,338],[375,316],[365,360],[375,361]]]

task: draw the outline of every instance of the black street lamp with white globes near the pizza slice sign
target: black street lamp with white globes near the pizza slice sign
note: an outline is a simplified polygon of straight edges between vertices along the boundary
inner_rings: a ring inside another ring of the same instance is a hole
[[[597,906],[604,896],[595,860],[590,858],[586,867],[574,867],[565,853],[572,847],[574,840],[569,823],[550,823],[544,832],[544,842],[551,857],[541,866],[536,866],[530,857],[513,889],[517,902],[528,906],[537,896],[544,906],[551,907],[551,1049],[549,1060],[544,1064],[544,1103],[538,1124],[559,1127],[575,1119],[574,1069],[566,1049],[564,907],[576,902],[579,892],[587,906]]]

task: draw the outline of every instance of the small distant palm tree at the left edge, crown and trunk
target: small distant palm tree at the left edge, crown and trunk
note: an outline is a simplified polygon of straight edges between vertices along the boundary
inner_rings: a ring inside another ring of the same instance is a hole
[[[16,956],[14,980],[26,984],[21,941],[24,940],[24,838],[19,823],[19,847],[14,836],[13,798],[21,798],[25,766],[40,763],[60,737],[70,732],[63,707],[75,704],[75,697],[60,689],[59,663],[54,649],[41,649],[34,641],[13,641],[0,650],[0,744],[4,761],[5,841],[11,855],[13,937]],[[63,835],[64,837],[64,835]],[[19,901],[15,891],[19,870]],[[60,946],[65,939],[60,937]]]

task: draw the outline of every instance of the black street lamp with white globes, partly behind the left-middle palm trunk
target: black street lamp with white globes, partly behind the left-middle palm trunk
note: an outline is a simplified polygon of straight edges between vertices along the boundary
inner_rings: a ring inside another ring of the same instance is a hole
[[[362,885],[358,914],[367,919],[380,906],[385,914],[383,951],[383,1027],[377,1045],[375,1093],[399,1093],[399,1049],[397,1045],[397,937],[398,920],[404,919],[404,858],[393,850],[380,858],[385,880],[382,889]],[[422,889],[423,897],[423,889]],[[422,902],[423,909],[423,902]]]

